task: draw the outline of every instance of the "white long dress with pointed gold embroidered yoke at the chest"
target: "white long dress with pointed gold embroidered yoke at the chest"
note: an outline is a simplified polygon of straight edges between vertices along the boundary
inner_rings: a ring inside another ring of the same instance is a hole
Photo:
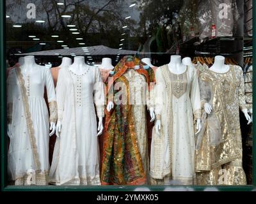
[[[187,66],[180,75],[171,73],[167,65],[157,69],[156,117],[162,126],[161,135],[154,131],[152,136],[151,177],[162,180],[163,184],[193,184],[194,121],[200,119],[200,90],[195,68]]]

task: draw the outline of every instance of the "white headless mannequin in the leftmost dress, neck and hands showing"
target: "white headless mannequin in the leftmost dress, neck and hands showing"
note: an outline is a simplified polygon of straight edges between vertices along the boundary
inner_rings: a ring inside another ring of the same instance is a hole
[[[20,59],[20,61],[22,62],[23,59]],[[21,69],[21,72],[23,75],[27,75],[28,73],[31,73],[31,71],[34,71],[36,68],[42,69],[42,68],[44,68],[44,66],[40,66],[40,65],[36,64],[34,56],[24,57],[24,63],[20,64],[20,69]],[[9,131],[10,128],[11,128],[11,125],[8,124],[8,135],[10,133],[10,131]],[[56,124],[54,122],[51,122],[51,126],[50,126],[51,133],[49,134],[49,136],[54,135],[55,130],[56,130]]]

